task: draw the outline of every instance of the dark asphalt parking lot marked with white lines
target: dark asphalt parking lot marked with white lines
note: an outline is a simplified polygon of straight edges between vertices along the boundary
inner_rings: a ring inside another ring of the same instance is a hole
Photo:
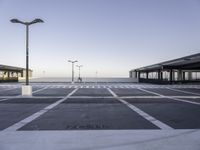
[[[22,97],[20,84],[0,85],[0,135],[5,139],[28,131],[31,135],[42,131],[108,131],[112,135],[114,131],[167,131],[164,136],[197,131],[199,136],[200,85],[32,86],[33,96]],[[2,139],[0,143],[6,145]]]

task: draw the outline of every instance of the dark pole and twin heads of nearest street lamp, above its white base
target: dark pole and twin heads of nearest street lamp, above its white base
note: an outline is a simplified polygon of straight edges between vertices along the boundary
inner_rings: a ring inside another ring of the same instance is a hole
[[[35,23],[43,23],[44,21],[38,18],[34,19],[31,22],[23,22],[18,19],[11,19],[10,21],[12,23],[20,23],[26,26],[26,86],[28,86],[29,85],[29,26]]]

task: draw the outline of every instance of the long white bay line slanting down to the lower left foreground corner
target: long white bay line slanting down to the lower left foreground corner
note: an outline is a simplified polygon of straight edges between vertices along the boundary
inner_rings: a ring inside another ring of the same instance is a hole
[[[52,108],[56,107],[57,105],[59,105],[60,103],[62,103],[63,101],[67,100],[72,94],[74,94],[77,89],[74,89],[71,93],[69,93],[65,98],[43,108],[42,110],[34,113],[33,115],[15,123],[14,125],[4,129],[3,131],[16,131],[18,129],[20,129],[21,127],[25,126],[26,124],[30,123],[31,121],[35,120],[36,118],[40,117],[41,115],[43,115],[44,113],[46,113],[47,111],[51,110]]]

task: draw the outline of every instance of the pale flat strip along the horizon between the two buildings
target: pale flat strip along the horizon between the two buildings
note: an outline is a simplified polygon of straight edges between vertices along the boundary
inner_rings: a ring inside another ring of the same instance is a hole
[[[20,79],[20,82],[25,82],[25,79]],[[71,82],[71,78],[61,77],[44,77],[44,78],[32,78],[30,82]],[[74,79],[78,82],[77,78]],[[137,79],[133,78],[82,78],[82,82],[137,82]]]

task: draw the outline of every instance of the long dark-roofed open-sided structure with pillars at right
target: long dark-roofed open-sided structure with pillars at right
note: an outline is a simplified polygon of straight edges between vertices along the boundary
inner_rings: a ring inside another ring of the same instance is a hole
[[[149,83],[200,82],[200,53],[133,69],[131,78]]]

